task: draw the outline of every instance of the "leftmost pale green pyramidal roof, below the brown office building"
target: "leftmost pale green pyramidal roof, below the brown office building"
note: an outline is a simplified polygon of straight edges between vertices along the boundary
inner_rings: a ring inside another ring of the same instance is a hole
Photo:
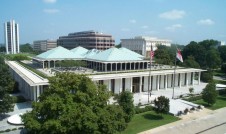
[[[73,52],[68,49],[58,46],[54,49],[41,53],[37,56],[38,58],[43,59],[76,59],[82,58],[81,55],[75,55]]]

